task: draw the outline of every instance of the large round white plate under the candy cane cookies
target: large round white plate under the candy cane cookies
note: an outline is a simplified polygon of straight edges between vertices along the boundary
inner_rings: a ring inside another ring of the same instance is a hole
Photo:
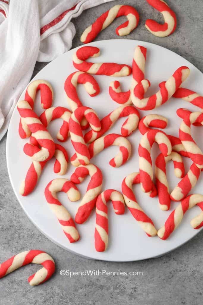
[[[158,91],[158,84],[161,81],[166,81],[173,72],[179,66],[188,66],[191,69],[191,75],[184,82],[185,87],[190,88],[194,91],[200,92],[203,83],[203,74],[179,55],[162,48],[158,45],[153,45],[144,41],[136,40],[104,40],[93,42],[93,46],[100,48],[101,55],[99,58],[94,58],[94,62],[117,62],[126,63],[131,65],[134,54],[134,49],[137,45],[143,45],[147,48],[147,61],[146,61],[146,73],[145,77],[151,82],[151,87],[147,93],[147,96]],[[54,102],[53,106],[64,106],[69,107],[66,100],[66,94],[64,91],[64,82],[66,77],[75,71],[72,65],[72,55],[76,49],[73,49],[57,59],[49,63],[44,69],[42,69],[34,78],[45,79],[51,83],[54,89]],[[108,76],[94,76],[100,85],[100,94],[96,97],[89,97],[85,92],[82,85],[78,86],[79,97],[83,105],[92,107],[96,110],[100,118],[110,113],[113,109],[119,107],[119,104],[111,100],[108,87],[114,77]],[[121,82],[122,89],[128,90],[131,84],[131,76],[117,78]],[[203,94],[203,92],[200,92]],[[25,91],[21,95],[20,99],[23,99]],[[166,102],[163,106],[152,110],[152,111],[140,111],[141,117],[150,114],[158,113],[168,118],[168,127],[164,130],[166,133],[178,136],[178,129],[181,123],[181,119],[177,117],[176,110],[180,107],[186,107],[193,111],[198,111],[198,108],[187,103],[181,99],[171,98],[170,101]],[[42,113],[40,106],[40,95],[37,94],[37,100],[35,102],[35,111],[38,115]],[[109,133],[119,133],[121,124],[125,119],[120,119],[112,127]],[[71,251],[73,253],[88,257],[91,259],[109,260],[109,261],[132,261],[142,260],[150,257],[157,257],[167,253],[195,236],[199,230],[191,228],[190,220],[192,217],[199,213],[199,208],[194,207],[191,211],[187,212],[184,219],[177,230],[171,234],[170,238],[166,241],[156,237],[148,237],[144,231],[140,228],[139,224],[133,218],[128,208],[125,209],[124,215],[116,215],[113,211],[111,202],[108,203],[109,213],[109,245],[105,252],[96,252],[94,248],[94,228],[95,228],[95,212],[91,214],[85,224],[77,224],[77,229],[80,234],[80,240],[78,242],[70,244],[65,234],[63,233],[60,224],[56,217],[47,205],[44,197],[44,188],[54,178],[58,178],[57,174],[53,172],[54,160],[49,161],[47,166],[38,181],[37,187],[34,192],[27,197],[19,195],[20,182],[25,178],[26,172],[31,164],[31,159],[23,153],[23,145],[28,139],[22,140],[18,135],[19,125],[19,113],[15,108],[11,122],[9,125],[7,135],[7,165],[9,171],[9,177],[11,180],[12,187],[19,200],[23,210],[30,218],[30,220],[36,225],[36,227],[49,239],[55,242],[57,245]],[[48,126],[48,130],[56,140],[56,134],[61,126],[61,120],[55,120]],[[198,141],[202,129],[193,128],[194,138]],[[141,139],[141,134],[138,129],[128,139],[132,145],[132,156],[130,160],[119,168],[111,167],[108,162],[115,156],[118,148],[110,147],[99,155],[92,159],[92,163],[96,164],[103,172],[103,190],[108,188],[114,188],[121,191],[121,182],[128,174],[138,171],[138,145]],[[70,138],[65,142],[61,143],[68,151],[69,157],[74,153],[74,149],[71,145]],[[200,143],[199,143],[200,144]],[[200,145],[203,148],[203,144]],[[152,147],[152,160],[154,162],[155,157],[159,153],[158,146],[155,144]],[[186,171],[191,165],[191,160],[184,158]],[[71,174],[75,168],[69,164],[67,174],[65,178],[70,179]],[[170,190],[175,187],[179,179],[173,174],[173,164],[167,166],[167,176],[170,185]],[[81,192],[81,198],[85,194],[87,184],[89,183],[89,177],[85,179],[80,185],[78,185],[79,191]],[[192,193],[201,193],[203,182],[199,179],[197,185],[193,188]],[[171,211],[179,203],[171,203],[170,211],[161,211],[158,205],[158,197],[149,198],[144,194],[140,186],[134,187],[135,195],[138,203],[142,206],[147,215],[153,220],[157,229],[159,229],[166,218],[169,216]],[[79,202],[70,202],[67,199],[65,193],[58,194],[59,200],[62,204],[67,207],[68,211],[74,218]],[[22,217],[24,214],[22,212]]]

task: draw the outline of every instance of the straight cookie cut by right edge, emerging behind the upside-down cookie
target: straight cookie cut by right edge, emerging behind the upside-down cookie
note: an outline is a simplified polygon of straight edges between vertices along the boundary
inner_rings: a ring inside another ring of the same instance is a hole
[[[173,94],[173,97],[183,99],[184,101],[189,102],[203,110],[203,96],[190,89],[180,87]]]

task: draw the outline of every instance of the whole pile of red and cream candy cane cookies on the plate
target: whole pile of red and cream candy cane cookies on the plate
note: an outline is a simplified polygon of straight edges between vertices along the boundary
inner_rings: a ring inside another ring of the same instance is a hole
[[[116,214],[124,213],[125,204],[133,217],[141,225],[148,236],[158,235],[167,239],[177,228],[186,210],[198,205],[203,210],[203,196],[194,194],[187,196],[196,184],[201,168],[203,168],[203,153],[191,137],[191,124],[203,124],[202,112],[191,113],[187,109],[178,109],[177,115],[183,119],[180,125],[179,138],[166,134],[163,129],[167,126],[167,118],[158,114],[149,114],[140,119],[139,109],[152,110],[160,107],[170,98],[182,98],[195,106],[203,108],[203,97],[187,88],[180,87],[190,74],[186,66],[179,67],[173,75],[159,84],[159,91],[145,98],[145,92],[150,82],[145,79],[145,60],[147,49],[137,46],[134,52],[132,67],[118,63],[90,63],[89,57],[99,56],[99,48],[84,46],[73,55],[73,65],[79,71],[70,74],[64,84],[68,104],[71,110],[64,107],[51,107],[53,90],[47,81],[33,81],[27,88],[25,100],[18,102],[18,111],[21,116],[19,135],[21,138],[30,137],[30,142],[24,145],[24,152],[32,159],[32,164],[26,178],[20,186],[20,193],[27,196],[37,184],[44,165],[53,156],[55,157],[54,172],[59,175],[66,173],[68,155],[62,145],[55,144],[47,125],[55,119],[61,118],[63,123],[58,131],[57,139],[65,142],[70,135],[75,154],[70,161],[76,167],[70,177],[56,178],[48,183],[45,188],[47,202],[58,218],[62,230],[70,242],[79,240],[77,224],[84,223],[96,207],[95,248],[104,251],[108,245],[108,216],[107,201],[111,200]],[[120,83],[113,81],[109,86],[109,95],[113,101],[120,104],[103,119],[99,119],[94,109],[83,106],[77,94],[77,84],[83,84],[90,96],[100,93],[100,87],[93,75],[108,75],[112,77],[127,76],[132,73],[131,87],[122,92]],[[41,105],[46,110],[37,117],[33,111],[37,90],[41,93]],[[106,134],[114,123],[121,117],[127,117],[121,127],[120,134]],[[155,129],[152,129],[155,127]],[[89,131],[84,130],[89,128]],[[115,145],[119,147],[117,155],[110,160],[112,167],[120,167],[131,157],[131,143],[127,139],[136,129],[139,129],[142,138],[138,147],[139,169],[138,172],[129,174],[122,182],[122,194],[114,189],[102,191],[103,174],[99,167],[91,164],[91,158],[103,149]],[[156,185],[153,183],[152,159],[150,151],[153,143],[158,143],[160,154],[155,162]],[[185,175],[182,156],[193,161],[189,172]],[[172,160],[174,173],[181,178],[178,185],[169,192],[166,178],[166,163]],[[87,187],[77,213],[75,221],[69,212],[57,199],[57,192],[65,192],[71,201],[77,201],[80,193],[77,184],[89,175],[91,180]],[[170,201],[180,201],[178,206],[168,217],[164,226],[158,231],[153,221],[147,216],[137,203],[132,190],[133,184],[140,184],[142,191],[150,197],[158,195],[161,210],[170,209]],[[203,225],[203,212],[191,221],[193,228]]]

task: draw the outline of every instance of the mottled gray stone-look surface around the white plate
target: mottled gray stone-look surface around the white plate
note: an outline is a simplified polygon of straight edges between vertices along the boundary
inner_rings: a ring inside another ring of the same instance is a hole
[[[145,27],[148,18],[163,21],[161,14],[145,0],[114,1],[89,9],[72,20],[76,27],[73,48],[81,45],[82,31],[101,13],[115,4],[135,5],[140,14],[138,28],[125,38],[149,41],[166,47],[183,56],[203,72],[202,0],[167,0],[177,14],[176,31],[169,37],[158,38]],[[114,30],[122,18],[115,20],[96,38],[118,38]],[[123,18],[124,20],[124,18]],[[122,39],[122,38],[120,38]],[[37,63],[34,75],[45,66]],[[201,231],[184,246],[163,257],[131,263],[110,263],[87,260],[56,246],[49,241],[27,218],[13,193],[5,158],[6,136],[0,142],[0,261],[27,249],[43,249],[56,261],[56,272],[45,284],[30,287],[29,275],[39,269],[28,265],[2,278],[0,304],[140,304],[140,305],[200,305],[202,299],[202,238]],[[62,277],[61,269],[83,271],[142,271],[142,276],[83,276]]]

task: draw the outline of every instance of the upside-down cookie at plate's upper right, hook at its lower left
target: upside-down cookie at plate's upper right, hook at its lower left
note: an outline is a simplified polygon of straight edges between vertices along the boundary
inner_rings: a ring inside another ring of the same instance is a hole
[[[143,79],[131,91],[132,103],[141,110],[152,110],[163,105],[171,98],[189,74],[190,69],[186,66],[181,66],[166,82],[159,84],[160,89],[156,94],[147,98],[144,98],[144,94],[149,88],[150,82]]]

